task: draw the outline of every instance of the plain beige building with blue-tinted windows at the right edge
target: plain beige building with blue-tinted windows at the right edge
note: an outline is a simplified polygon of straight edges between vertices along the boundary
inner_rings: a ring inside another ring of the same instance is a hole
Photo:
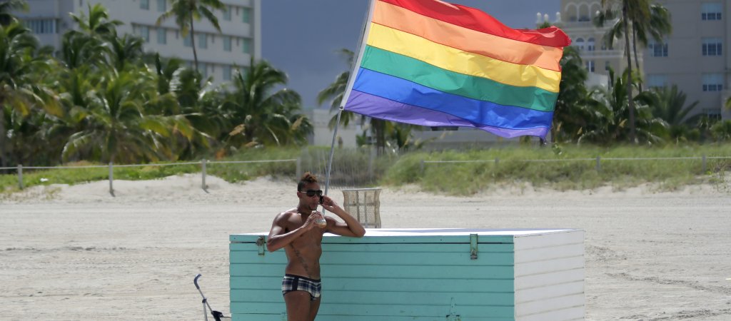
[[[673,34],[651,43],[645,53],[645,83],[676,84],[698,101],[695,113],[731,119],[731,0],[658,0],[672,14]]]

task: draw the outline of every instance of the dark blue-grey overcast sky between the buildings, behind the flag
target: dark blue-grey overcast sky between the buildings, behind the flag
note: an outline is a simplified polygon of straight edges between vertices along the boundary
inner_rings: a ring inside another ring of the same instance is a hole
[[[512,28],[535,27],[536,13],[555,19],[560,0],[451,0],[478,8]],[[262,58],[289,76],[303,106],[349,67],[336,51],[355,51],[368,0],[262,0]]]

